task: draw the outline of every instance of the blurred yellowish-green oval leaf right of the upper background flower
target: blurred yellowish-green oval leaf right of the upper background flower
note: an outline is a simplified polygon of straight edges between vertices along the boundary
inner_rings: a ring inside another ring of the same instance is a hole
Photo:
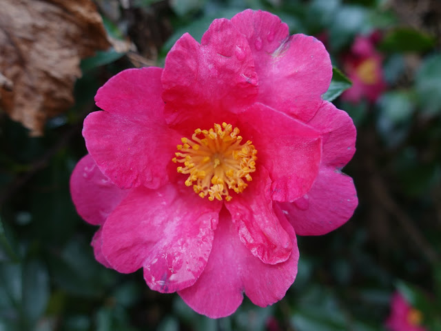
[[[424,52],[435,46],[435,39],[412,28],[398,28],[382,39],[379,48],[385,52]]]

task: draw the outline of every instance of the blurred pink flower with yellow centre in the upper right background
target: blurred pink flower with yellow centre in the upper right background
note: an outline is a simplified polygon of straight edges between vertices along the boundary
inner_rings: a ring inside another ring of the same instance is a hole
[[[378,33],[371,37],[358,36],[349,53],[342,59],[343,70],[352,87],[342,93],[345,101],[358,102],[362,98],[375,102],[387,88],[382,72],[382,56],[375,48]]]

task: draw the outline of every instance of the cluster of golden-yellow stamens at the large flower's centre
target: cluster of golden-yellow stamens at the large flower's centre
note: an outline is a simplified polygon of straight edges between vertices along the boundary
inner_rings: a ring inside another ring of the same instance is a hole
[[[192,139],[183,137],[179,152],[172,159],[183,163],[177,168],[181,174],[188,174],[185,185],[192,186],[199,197],[230,201],[228,190],[241,193],[252,181],[251,173],[256,171],[256,154],[251,141],[242,143],[239,129],[231,124],[214,123],[214,129],[194,130]]]

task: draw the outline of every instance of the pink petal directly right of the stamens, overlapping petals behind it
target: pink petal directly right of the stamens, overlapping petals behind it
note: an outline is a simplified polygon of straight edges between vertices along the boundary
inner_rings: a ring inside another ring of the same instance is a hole
[[[271,199],[294,201],[308,192],[320,165],[319,132],[261,103],[239,120],[240,134],[256,146],[257,165],[269,171]]]

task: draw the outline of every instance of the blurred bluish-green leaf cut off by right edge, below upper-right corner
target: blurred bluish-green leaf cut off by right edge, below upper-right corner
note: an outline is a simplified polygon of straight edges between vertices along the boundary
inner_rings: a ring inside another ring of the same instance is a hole
[[[416,92],[426,114],[441,112],[441,55],[433,55],[422,63],[416,74]]]

